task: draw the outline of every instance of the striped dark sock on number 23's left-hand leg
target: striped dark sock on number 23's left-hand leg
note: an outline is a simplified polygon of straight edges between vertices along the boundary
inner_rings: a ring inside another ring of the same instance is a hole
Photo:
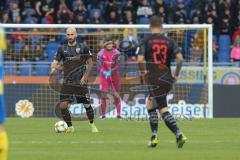
[[[148,110],[149,122],[153,135],[157,135],[158,132],[158,114],[156,109]]]

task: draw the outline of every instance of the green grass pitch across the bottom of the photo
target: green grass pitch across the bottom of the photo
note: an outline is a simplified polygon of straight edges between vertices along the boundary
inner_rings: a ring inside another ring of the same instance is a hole
[[[178,121],[188,137],[182,149],[162,121],[154,149],[147,147],[147,121],[97,119],[99,133],[74,121],[72,134],[55,133],[56,121],[8,118],[9,160],[240,160],[240,119]]]

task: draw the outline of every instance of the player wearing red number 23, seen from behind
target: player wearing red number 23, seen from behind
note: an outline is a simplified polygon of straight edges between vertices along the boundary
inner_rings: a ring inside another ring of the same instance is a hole
[[[167,93],[170,91],[172,83],[179,76],[183,57],[175,42],[164,35],[159,17],[151,17],[150,30],[151,33],[146,35],[136,51],[143,81],[149,84],[156,84],[157,82],[159,86],[157,91],[149,91],[150,94],[147,100],[147,110],[152,131],[148,146],[156,147],[158,144],[158,109],[166,126],[176,136],[177,147],[182,148],[187,138],[179,130],[176,120],[168,111]],[[172,76],[170,69],[172,58],[175,58],[177,63],[174,76]],[[161,74],[161,76],[157,74]]]

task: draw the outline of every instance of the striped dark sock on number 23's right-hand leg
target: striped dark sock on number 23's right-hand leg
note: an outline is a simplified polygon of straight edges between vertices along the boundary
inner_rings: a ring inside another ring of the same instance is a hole
[[[173,118],[171,113],[169,113],[169,112],[163,113],[162,118],[163,118],[166,126],[172,131],[172,133],[174,133],[177,137],[180,136],[181,132],[179,131],[177,122]]]

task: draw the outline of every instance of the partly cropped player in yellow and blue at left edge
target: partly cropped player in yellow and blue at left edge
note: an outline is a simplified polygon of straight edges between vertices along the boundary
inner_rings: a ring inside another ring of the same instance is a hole
[[[5,121],[5,104],[3,98],[3,50],[6,49],[6,40],[4,31],[0,28],[0,160],[7,159],[8,139],[4,130],[3,123]]]

